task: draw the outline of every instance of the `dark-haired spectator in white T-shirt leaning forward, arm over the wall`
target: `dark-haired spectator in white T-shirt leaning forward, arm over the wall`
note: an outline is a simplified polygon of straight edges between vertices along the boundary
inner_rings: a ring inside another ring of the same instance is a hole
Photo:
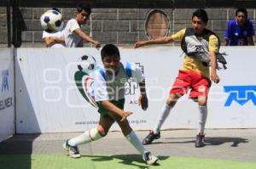
[[[67,21],[64,32],[67,48],[83,47],[83,41],[91,42],[96,48],[100,47],[100,42],[93,40],[81,29],[81,25],[86,24],[86,21],[89,19],[90,13],[90,5],[80,3],[77,7],[76,18]]]

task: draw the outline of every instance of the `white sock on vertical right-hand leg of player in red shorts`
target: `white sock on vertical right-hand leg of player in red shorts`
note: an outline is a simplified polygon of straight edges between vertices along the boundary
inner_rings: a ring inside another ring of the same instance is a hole
[[[198,133],[205,132],[205,126],[207,122],[207,105],[198,105],[199,108],[199,121],[198,121]]]

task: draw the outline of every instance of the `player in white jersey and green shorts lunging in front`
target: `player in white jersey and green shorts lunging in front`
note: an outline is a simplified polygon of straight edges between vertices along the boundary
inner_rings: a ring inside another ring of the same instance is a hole
[[[116,121],[121,128],[125,138],[143,155],[143,161],[148,165],[154,165],[157,157],[144,148],[137,138],[137,134],[131,129],[127,117],[131,111],[124,110],[125,104],[125,82],[130,77],[134,78],[140,87],[141,96],[139,105],[143,110],[148,108],[148,98],[145,90],[145,80],[142,71],[136,65],[129,62],[120,62],[119,48],[113,44],[107,44],[102,48],[102,66],[98,66],[93,83],[93,98],[96,101],[101,114],[99,124],[96,128],[84,132],[77,138],[72,138],[63,144],[64,149],[69,151],[73,158],[80,157],[78,145],[96,141],[107,135],[109,128]]]

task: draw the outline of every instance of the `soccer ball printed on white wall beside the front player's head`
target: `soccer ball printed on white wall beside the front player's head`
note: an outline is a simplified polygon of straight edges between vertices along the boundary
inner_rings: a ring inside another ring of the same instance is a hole
[[[91,72],[96,70],[96,59],[90,54],[85,54],[81,56],[78,62],[79,70],[84,71],[84,73],[90,74]]]

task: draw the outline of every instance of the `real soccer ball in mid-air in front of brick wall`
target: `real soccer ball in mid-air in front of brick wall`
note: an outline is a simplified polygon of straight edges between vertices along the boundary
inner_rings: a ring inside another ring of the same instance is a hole
[[[54,33],[56,31],[61,31],[63,28],[63,22],[61,20],[61,13],[56,10],[47,10],[41,15],[40,22],[44,31],[49,33]]]

